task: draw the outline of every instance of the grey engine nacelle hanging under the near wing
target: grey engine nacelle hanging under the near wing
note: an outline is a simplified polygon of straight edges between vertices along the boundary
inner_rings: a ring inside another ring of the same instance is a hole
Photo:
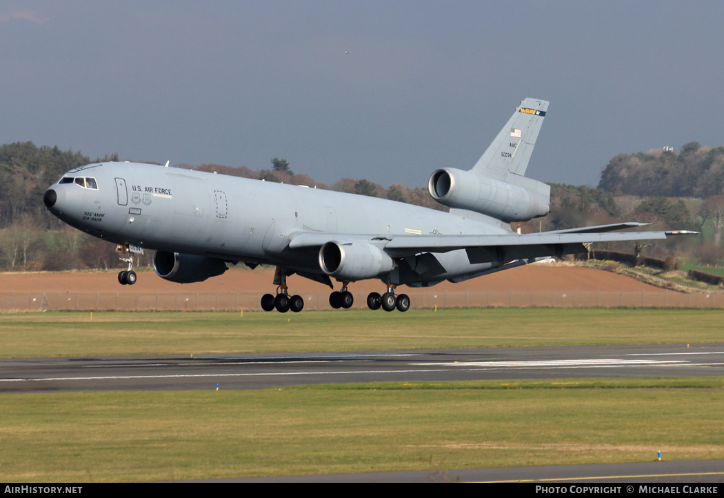
[[[392,271],[395,261],[376,245],[332,241],[321,246],[319,267],[329,277],[362,280]]]

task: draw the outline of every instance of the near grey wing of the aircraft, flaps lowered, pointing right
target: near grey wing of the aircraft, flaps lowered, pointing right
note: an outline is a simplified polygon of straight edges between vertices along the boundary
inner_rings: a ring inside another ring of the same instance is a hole
[[[617,224],[618,228],[626,224]],[[628,225],[638,226],[639,224]],[[327,242],[342,245],[366,242],[384,249],[392,258],[405,258],[419,253],[447,253],[464,249],[471,263],[498,261],[505,263],[516,259],[563,256],[585,253],[584,244],[590,242],[626,242],[631,240],[659,240],[667,235],[687,232],[540,232],[532,234],[502,235],[349,235],[300,233],[292,237],[290,248],[319,248]],[[593,227],[591,227],[593,228]],[[575,229],[574,229],[575,230]],[[585,229],[581,229],[585,230]]]

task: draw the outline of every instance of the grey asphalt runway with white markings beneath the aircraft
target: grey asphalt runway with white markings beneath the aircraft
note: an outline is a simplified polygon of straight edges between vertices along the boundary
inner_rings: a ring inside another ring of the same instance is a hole
[[[0,393],[723,375],[720,344],[23,358],[0,360]]]

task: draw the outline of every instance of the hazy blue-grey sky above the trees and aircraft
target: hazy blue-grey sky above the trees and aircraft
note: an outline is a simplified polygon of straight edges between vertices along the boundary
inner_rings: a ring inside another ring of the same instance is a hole
[[[470,169],[550,101],[527,176],[724,145],[724,2],[0,3],[0,143],[271,168],[332,185]]]

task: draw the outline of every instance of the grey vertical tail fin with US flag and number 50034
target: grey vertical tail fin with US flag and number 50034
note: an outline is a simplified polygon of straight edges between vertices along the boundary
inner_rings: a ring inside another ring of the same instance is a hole
[[[521,177],[526,174],[547,110],[547,101],[522,101],[471,171],[504,181],[508,173]]]

